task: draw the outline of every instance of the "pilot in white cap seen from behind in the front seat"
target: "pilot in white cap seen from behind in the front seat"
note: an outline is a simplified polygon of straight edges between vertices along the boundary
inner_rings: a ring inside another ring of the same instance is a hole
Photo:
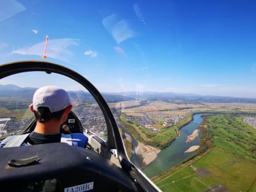
[[[57,86],[44,86],[36,90],[33,104],[36,127],[30,134],[9,136],[0,147],[18,147],[44,143],[63,142],[77,147],[86,147],[88,138],[82,133],[61,134],[60,127],[68,117],[72,104],[68,93]]]

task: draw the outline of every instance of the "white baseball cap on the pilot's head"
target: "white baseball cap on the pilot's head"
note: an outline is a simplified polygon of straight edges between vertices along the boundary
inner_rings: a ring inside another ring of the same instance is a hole
[[[71,104],[68,93],[58,86],[43,86],[36,90],[33,96],[33,109],[49,108],[51,113],[61,111]]]

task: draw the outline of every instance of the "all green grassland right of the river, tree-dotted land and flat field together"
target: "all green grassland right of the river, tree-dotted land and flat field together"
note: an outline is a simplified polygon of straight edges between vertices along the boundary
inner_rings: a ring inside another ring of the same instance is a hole
[[[200,127],[204,131],[201,138],[211,140],[211,150],[155,177],[154,182],[163,191],[205,191],[217,185],[228,191],[255,191],[256,133],[230,129],[256,132],[255,128],[244,123],[242,115],[205,116],[204,123],[211,125]],[[198,173],[198,169],[208,174]]]

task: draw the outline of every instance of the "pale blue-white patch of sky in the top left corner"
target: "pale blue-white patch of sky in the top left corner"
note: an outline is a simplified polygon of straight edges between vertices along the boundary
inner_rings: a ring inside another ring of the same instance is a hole
[[[25,6],[15,0],[1,0],[0,1],[0,21],[8,19],[17,13],[26,10]]]

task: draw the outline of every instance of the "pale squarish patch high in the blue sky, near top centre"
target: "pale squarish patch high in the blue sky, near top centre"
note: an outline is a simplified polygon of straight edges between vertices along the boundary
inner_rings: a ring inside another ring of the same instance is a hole
[[[103,26],[113,36],[117,44],[134,36],[134,31],[131,28],[128,20],[120,19],[118,15],[113,14],[102,20]]]

